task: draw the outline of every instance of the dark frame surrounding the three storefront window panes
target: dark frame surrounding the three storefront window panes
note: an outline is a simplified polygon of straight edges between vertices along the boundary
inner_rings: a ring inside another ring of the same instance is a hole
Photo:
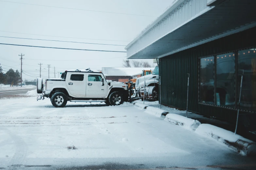
[[[247,49],[251,49],[251,48],[256,48],[256,46],[253,46],[253,47],[248,47],[248,48],[243,48],[243,49],[237,49],[237,50],[232,50],[232,51],[226,51],[226,52],[222,52],[222,53],[216,53],[214,55],[207,55],[207,56],[204,56],[204,57],[197,57],[197,92],[198,92],[198,96],[197,96],[197,103],[198,104],[201,104],[201,105],[210,105],[210,106],[215,106],[215,107],[223,107],[223,108],[227,108],[227,109],[231,109],[231,110],[237,110],[238,109],[238,99],[237,99],[237,95],[238,94],[238,90],[239,90],[239,82],[237,81],[238,79],[238,51],[240,50],[247,50]],[[231,108],[231,107],[226,107],[226,106],[218,106],[216,105],[216,95],[215,95],[215,92],[216,92],[216,67],[217,67],[217,63],[216,63],[216,60],[217,60],[217,55],[221,55],[221,54],[227,54],[227,53],[231,53],[233,52],[235,54],[235,79],[234,79],[234,85],[235,85],[235,90],[234,90],[234,108]],[[211,105],[211,104],[206,104],[206,103],[201,103],[200,102],[200,59],[202,58],[207,58],[207,57],[212,57],[214,56],[214,105]],[[240,109],[241,110],[241,109]],[[243,111],[246,111],[246,112],[251,112],[251,113],[256,113],[256,112],[253,112],[253,111],[249,111],[249,110],[243,110]]]

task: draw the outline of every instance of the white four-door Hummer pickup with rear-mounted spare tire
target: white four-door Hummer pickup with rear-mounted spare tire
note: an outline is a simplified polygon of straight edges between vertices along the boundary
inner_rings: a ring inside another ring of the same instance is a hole
[[[61,74],[61,78],[37,79],[37,100],[51,99],[55,107],[64,107],[70,102],[105,102],[120,105],[128,101],[128,86],[120,82],[106,80],[102,72],[71,70]]]

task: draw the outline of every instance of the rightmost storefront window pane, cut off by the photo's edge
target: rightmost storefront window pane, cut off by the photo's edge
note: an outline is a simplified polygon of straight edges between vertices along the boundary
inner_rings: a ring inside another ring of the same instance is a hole
[[[238,95],[239,101],[241,76],[244,70],[241,91],[240,109],[256,111],[256,50],[247,49],[238,51]]]

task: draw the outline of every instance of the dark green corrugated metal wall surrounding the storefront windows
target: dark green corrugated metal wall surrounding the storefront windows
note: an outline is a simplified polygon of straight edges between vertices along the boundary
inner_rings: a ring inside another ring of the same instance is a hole
[[[204,115],[215,116],[218,119],[235,122],[236,110],[198,104],[198,57],[256,46],[255,32],[256,27],[161,58],[159,67],[162,103],[186,109],[187,73],[189,73],[188,109]],[[241,113],[245,114],[246,112]],[[256,114],[247,115],[255,116]]]

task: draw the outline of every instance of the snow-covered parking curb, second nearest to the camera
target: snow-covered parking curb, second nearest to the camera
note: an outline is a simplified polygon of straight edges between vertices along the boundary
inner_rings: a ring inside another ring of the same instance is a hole
[[[198,120],[186,118],[174,113],[167,114],[164,120],[192,131],[195,131],[196,128],[201,124]]]

